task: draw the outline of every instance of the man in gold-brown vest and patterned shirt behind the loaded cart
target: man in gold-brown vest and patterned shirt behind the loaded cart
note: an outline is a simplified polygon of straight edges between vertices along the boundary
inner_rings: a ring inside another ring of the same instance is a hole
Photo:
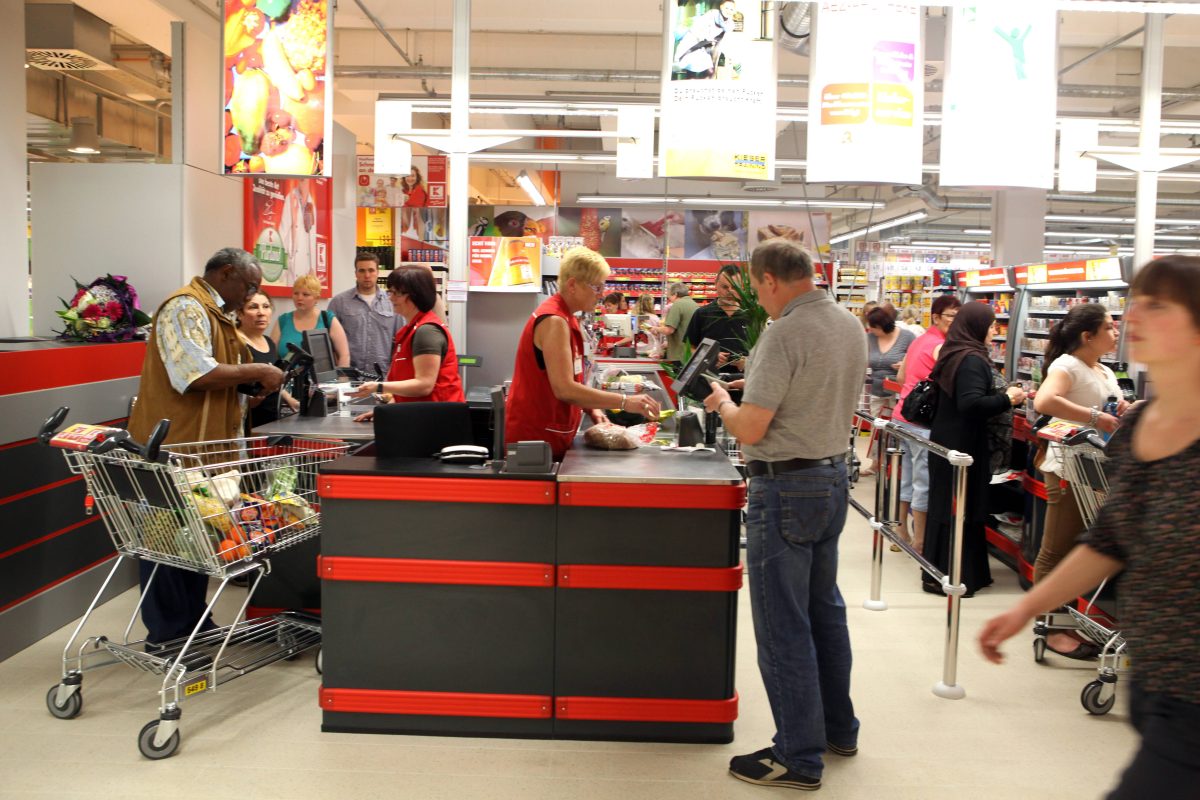
[[[233,439],[245,413],[238,385],[259,384],[264,396],[280,387],[283,373],[254,363],[234,317],[262,279],[253,255],[226,247],[209,259],[203,278],[192,278],[158,307],[130,415],[136,440],[145,441],[163,419],[170,420],[168,444]],[[197,625],[214,627],[205,616],[208,576],[163,565],[151,582],[152,570],[154,564],[139,563],[148,650],[186,637]]]

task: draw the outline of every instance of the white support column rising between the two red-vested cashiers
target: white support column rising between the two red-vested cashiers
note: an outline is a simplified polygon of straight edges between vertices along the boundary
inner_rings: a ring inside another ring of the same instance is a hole
[[[454,54],[450,71],[450,152],[446,266],[451,281],[467,281],[467,196],[470,187],[470,0],[454,0]],[[467,353],[467,303],[455,303],[450,312],[450,336],[455,349]]]

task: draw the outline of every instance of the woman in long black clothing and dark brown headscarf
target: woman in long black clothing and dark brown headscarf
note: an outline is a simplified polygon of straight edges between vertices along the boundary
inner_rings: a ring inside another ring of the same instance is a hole
[[[988,566],[988,486],[991,482],[991,452],[985,422],[1025,402],[1025,390],[1009,386],[997,392],[991,378],[988,338],[996,314],[984,302],[968,302],[959,309],[946,333],[929,379],[937,384],[937,413],[929,438],[944,447],[965,452],[973,463],[967,470],[966,506],[962,517],[962,573],[966,597],[991,584]],[[925,528],[925,558],[938,570],[950,572],[950,541],[954,535],[954,474],[944,458],[929,459],[929,517]],[[922,572],[922,589],[941,595],[942,587]]]

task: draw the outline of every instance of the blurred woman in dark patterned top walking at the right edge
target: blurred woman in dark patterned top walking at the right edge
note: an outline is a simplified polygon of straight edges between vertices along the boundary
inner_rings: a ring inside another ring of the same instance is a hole
[[[1200,786],[1200,258],[1168,255],[1129,289],[1129,357],[1154,397],[1130,408],[1108,444],[1109,497],[1075,548],[979,633],[983,654],[1036,614],[1121,572],[1121,630],[1136,654],[1130,721],[1141,746],[1109,800],[1195,796]],[[1163,604],[1170,603],[1170,631]],[[1190,787],[1190,788],[1188,788]]]

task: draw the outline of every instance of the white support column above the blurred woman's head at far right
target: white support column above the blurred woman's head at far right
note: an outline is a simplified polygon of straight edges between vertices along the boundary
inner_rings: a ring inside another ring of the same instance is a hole
[[[1158,211],[1158,151],[1163,119],[1163,14],[1146,14],[1141,46],[1141,131],[1138,148],[1138,194],[1134,203],[1133,263],[1141,267],[1154,255],[1154,217]]]

